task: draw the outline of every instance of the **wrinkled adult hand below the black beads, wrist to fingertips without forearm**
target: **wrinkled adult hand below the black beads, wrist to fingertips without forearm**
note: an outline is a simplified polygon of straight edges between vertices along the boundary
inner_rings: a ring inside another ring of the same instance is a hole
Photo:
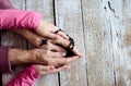
[[[67,65],[79,59],[78,56],[64,58],[66,53],[52,52],[46,49],[34,49],[32,54],[33,63],[53,65],[55,67]]]

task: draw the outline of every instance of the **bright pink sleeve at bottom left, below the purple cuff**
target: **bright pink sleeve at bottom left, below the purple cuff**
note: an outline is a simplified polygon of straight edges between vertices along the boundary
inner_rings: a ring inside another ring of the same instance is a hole
[[[38,78],[38,72],[34,65],[31,65],[12,79],[7,86],[32,86],[36,78]]]

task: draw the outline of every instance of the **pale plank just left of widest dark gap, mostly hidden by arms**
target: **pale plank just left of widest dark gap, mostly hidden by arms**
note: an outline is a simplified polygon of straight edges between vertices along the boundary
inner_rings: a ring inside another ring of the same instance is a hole
[[[53,0],[26,0],[26,10],[37,11],[44,14],[44,20],[53,23]],[[34,86],[59,86],[58,74],[51,74],[39,78]]]

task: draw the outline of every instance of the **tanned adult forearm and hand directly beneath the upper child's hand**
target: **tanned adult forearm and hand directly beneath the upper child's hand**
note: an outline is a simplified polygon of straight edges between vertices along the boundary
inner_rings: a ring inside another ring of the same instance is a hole
[[[32,32],[28,29],[13,29],[13,32],[25,37],[31,44],[33,44],[37,48],[44,48],[44,49],[47,49],[50,51],[57,51],[57,52],[66,52],[66,50],[62,47],[48,42],[49,39],[36,34],[36,32]]]

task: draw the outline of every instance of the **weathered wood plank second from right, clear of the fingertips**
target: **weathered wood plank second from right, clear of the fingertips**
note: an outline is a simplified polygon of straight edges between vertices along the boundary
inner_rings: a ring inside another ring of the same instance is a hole
[[[88,86],[115,86],[107,0],[82,0]]]

